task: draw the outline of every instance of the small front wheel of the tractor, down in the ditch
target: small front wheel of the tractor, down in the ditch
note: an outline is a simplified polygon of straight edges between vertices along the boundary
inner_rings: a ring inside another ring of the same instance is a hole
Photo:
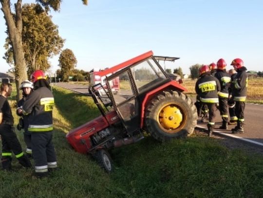
[[[105,149],[98,150],[94,157],[102,168],[104,168],[108,173],[112,172],[113,160],[108,151]]]

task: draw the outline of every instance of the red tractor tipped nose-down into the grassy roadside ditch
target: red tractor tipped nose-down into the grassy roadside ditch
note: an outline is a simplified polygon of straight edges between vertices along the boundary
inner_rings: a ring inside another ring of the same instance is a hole
[[[119,79],[120,91],[113,94],[100,83],[89,87],[101,116],[66,135],[75,151],[94,155],[110,172],[113,164],[108,149],[138,142],[146,133],[162,142],[193,133],[195,105],[183,93],[186,89],[169,78],[151,51],[109,70],[114,73],[106,76],[106,87],[111,88]]]

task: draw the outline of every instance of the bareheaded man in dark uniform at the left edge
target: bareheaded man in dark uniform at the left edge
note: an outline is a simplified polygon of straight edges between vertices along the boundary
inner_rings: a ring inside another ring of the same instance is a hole
[[[2,168],[11,170],[12,151],[16,155],[19,163],[24,167],[31,167],[31,162],[24,155],[17,135],[14,132],[14,117],[8,103],[8,96],[11,95],[12,85],[8,78],[3,78],[0,85],[0,135],[2,141]]]

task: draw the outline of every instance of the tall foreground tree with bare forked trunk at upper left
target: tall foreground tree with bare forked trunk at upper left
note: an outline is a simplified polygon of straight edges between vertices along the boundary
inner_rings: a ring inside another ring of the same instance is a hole
[[[62,0],[37,0],[47,11],[52,8],[55,11],[59,10]],[[1,10],[4,14],[4,19],[7,25],[7,32],[11,42],[15,64],[15,76],[17,85],[17,101],[19,100],[19,85],[22,80],[27,79],[24,52],[22,45],[22,0],[17,0],[15,5],[15,16],[11,12],[10,0],[0,0]],[[82,0],[83,4],[87,5],[88,0]]]

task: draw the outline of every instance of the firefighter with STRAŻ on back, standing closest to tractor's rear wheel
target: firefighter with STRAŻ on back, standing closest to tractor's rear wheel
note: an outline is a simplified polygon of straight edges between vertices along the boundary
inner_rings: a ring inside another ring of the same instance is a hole
[[[195,84],[195,91],[199,95],[202,103],[208,107],[209,120],[207,124],[208,136],[211,136],[215,126],[215,111],[218,103],[218,91],[220,83],[217,78],[210,75],[210,69],[207,65],[199,69],[200,78]]]

